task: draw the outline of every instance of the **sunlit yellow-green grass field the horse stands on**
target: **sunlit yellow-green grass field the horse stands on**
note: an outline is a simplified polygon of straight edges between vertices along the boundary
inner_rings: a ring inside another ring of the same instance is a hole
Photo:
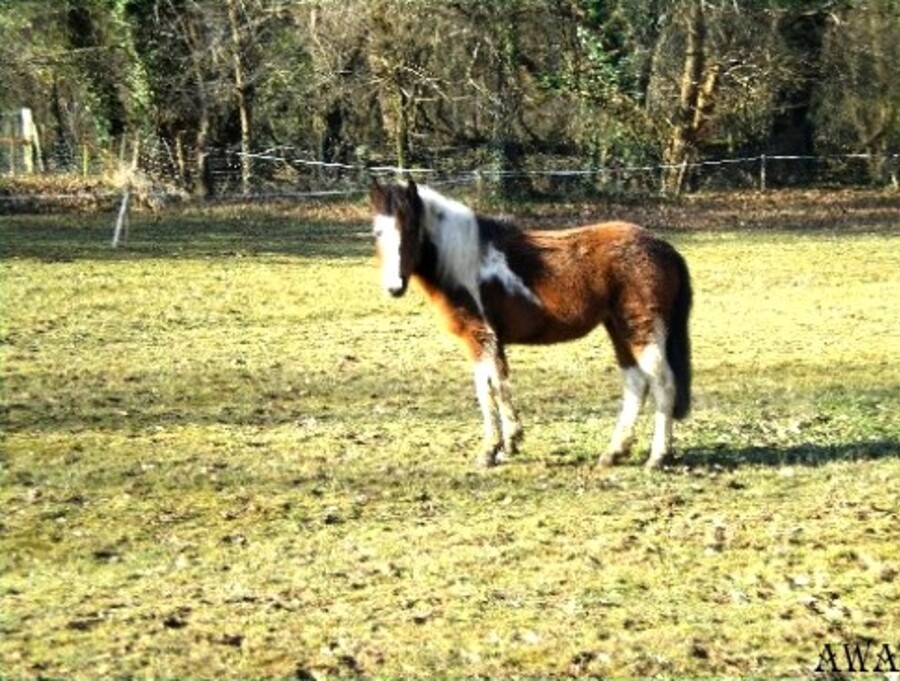
[[[594,468],[621,389],[601,334],[511,350],[523,451],[477,469],[469,367],[418,293],[381,294],[362,204],[138,215],[116,251],[107,215],[3,216],[0,675],[769,677],[896,651],[900,211],[764,201],[776,228],[666,234],[695,397],[652,474],[646,416]]]

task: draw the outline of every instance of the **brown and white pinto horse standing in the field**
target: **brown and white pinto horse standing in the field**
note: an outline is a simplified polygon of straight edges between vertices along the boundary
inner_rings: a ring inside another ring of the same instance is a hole
[[[630,453],[648,392],[656,411],[646,468],[668,463],[673,420],[690,410],[693,297],[687,263],[671,244],[628,222],[523,230],[412,179],[373,180],[369,198],[382,286],[399,298],[416,282],[472,361],[481,465],[507,460],[522,438],[506,346],[570,341],[601,324],[624,391],[598,465]]]

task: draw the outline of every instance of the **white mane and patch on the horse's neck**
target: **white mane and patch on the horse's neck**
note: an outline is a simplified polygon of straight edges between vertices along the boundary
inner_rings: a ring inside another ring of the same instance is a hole
[[[425,231],[438,253],[438,276],[446,284],[466,289],[483,311],[478,286],[478,220],[474,211],[425,185],[418,186],[418,194],[425,207]]]

